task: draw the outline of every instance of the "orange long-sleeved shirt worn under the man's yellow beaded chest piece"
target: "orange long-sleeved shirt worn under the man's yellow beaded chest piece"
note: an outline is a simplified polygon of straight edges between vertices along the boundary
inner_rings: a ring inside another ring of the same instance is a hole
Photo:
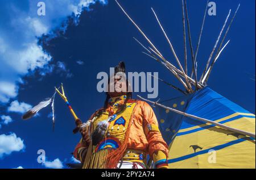
[[[129,100],[134,101],[134,100]],[[128,101],[128,102],[129,102]],[[122,100],[120,101],[123,102]],[[166,157],[168,157],[168,146],[158,128],[158,121],[151,106],[144,101],[137,101],[134,108],[133,122],[130,127],[127,149],[139,150],[149,154],[154,160],[156,168],[168,168]],[[113,111],[113,106],[108,106],[106,111]],[[95,113],[91,116],[93,119]],[[74,156],[81,162],[84,161],[87,145],[77,144]]]

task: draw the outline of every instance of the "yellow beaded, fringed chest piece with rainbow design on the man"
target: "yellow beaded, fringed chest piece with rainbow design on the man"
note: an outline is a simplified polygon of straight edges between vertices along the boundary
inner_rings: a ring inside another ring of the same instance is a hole
[[[108,128],[104,138],[100,143],[92,145],[92,155],[88,162],[84,163],[83,168],[106,168],[106,158],[109,153],[118,149],[126,138],[127,129],[132,123],[133,112],[136,102],[126,103],[126,108],[118,114],[115,112],[103,112],[102,115],[93,120],[93,130],[96,129],[97,125],[101,122],[108,121]],[[112,110],[113,110],[112,108]]]

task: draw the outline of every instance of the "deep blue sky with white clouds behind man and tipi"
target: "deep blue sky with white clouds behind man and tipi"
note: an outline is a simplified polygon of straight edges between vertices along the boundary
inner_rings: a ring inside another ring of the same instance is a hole
[[[119,61],[126,62],[127,72],[159,72],[160,78],[181,87],[163,66],[141,53],[142,48],[133,36],[144,44],[146,41],[114,1],[43,2],[46,2],[46,16],[36,14],[37,1],[0,1],[0,168],[65,168],[65,163],[73,161],[71,152],[80,135],[72,134],[75,124],[60,97],[55,99],[54,132],[48,117],[51,107],[28,121],[20,118],[28,108],[51,97],[54,86],[61,82],[83,121],[104,103],[105,94],[96,89],[97,73],[109,72],[109,67]],[[178,57],[183,59],[181,1],[119,2],[176,65],[150,10],[154,7]],[[206,2],[188,1],[194,45]],[[255,114],[255,80],[251,79],[255,79],[255,1],[214,2],[217,15],[207,15],[197,56],[198,71],[203,71],[229,9],[233,15],[241,3],[226,38],[230,43],[214,66],[208,85]],[[146,96],[146,93],[139,94]],[[158,98],[180,95],[159,82]],[[46,151],[48,164],[38,164],[39,149]]]

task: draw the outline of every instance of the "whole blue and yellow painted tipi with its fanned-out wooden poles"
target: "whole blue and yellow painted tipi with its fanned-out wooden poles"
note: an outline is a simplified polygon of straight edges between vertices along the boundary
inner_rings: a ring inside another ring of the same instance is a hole
[[[117,2],[117,0],[115,1]],[[167,61],[162,53],[160,53],[150,39],[144,34],[141,28],[139,28],[134,20],[130,18],[122,6],[117,2],[121,10],[131,20],[139,32],[141,32],[150,45],[150,47],[146,48],[146,45],[143,45],[134,38],[145,49],[146,52],[143,53],[154,58],[154,60],[170,70],[185,89],[183,90],[165,82],[176,90],[181,91],[184,95],[161,102],[164,106],[160,106],[160,103],[153,102],[155,105],[158,105],[156,106],[156,116],[158,117],[160,131],[170,148],[168,156],[169,167],[255,168],[255,115],[222,97],[207,86],[207,81],[213,65],[223,49],[229,43],[229,40],[225,44],[224,41],[240,5],[238,5],[236,12],[227,26],[231,11],[229,10],[229,14],[225,19],[213,50],[210,52],[204,72],[198,77],[197,52],[204,27],[207,7],[204,13],[199,41],[197,43],[196,51],[194,52],[191,43],[187,3],[185,0],[181,0],[181,2],[183,10],[184,67],[181,66],[180,60],[171,44],[171,40],[167,36],[166,31],[164,31],[162,24],[153,9],[152,12],[170,45],[171,51],[174,54],[179,67],[176,67],[170,61]],[[187,23],[185,23],[185,21]],[[186,35],[186,31],[188,31],[188,35]],[[190,76],[188,75],[187,66],[187,36],[193,67]],[[160,79],[160,81],[163,80]],[[183,114],[177,114],[177,111],[183,112]],[[208,119],[208,122],[212,123],[206,123],[204,119]]]

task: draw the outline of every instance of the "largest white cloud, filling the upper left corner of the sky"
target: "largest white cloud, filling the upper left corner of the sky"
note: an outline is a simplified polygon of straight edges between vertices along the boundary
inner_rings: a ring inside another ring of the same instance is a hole
[[[44,0],[46,16],[37,15],[38,1],[0,1],[0,103],[8,103],[18,95],[19,83],[28,73],[38,69],[45,76],[52,72],[51,56],[43,51],[37,37],[43,34],[54,37],[56,29],[65,31],[67,16],[72,15],[79,22],[82,10],[97,1],[108,3],[106,0]],[[67,77],[71,76],[67,72]]]

